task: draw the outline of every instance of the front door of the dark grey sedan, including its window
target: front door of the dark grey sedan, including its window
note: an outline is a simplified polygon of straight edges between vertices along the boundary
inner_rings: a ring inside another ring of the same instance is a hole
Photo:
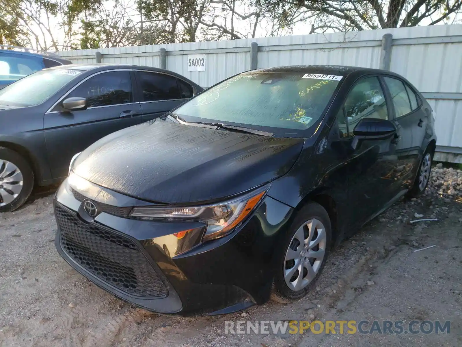
[[[81,81],[45,114],[45,141],[54,178],[67,175],[72,156],[103,136],[141,123],[140,103],[133,101],[133,72],[103,71]],[[62,100],[82,97],[87,109],[67,111]]]

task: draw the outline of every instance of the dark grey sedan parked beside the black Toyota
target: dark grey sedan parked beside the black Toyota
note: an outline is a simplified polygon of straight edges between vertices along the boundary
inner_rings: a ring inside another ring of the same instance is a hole
[[[0,90],[0,212],[34,185],[59,183],[73,155],[114,131],[158,118],[202,88],[171,71],[64,65]]]

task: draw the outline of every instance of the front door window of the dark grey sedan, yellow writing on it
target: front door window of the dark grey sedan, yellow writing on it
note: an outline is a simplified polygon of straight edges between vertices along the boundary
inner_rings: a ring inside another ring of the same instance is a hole
[[[109,71],[94,75],[66,96],[66,98],[71,97],[85,98],[87,107],[133,102],[130,71]]]

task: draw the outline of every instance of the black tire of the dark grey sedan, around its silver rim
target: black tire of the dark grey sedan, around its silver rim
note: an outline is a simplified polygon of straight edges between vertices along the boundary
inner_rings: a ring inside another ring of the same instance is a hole
[[[23,189],[21,192],[11,203],[0,206],[0,212],[10,212],[23,205],[27,201],[27,198],[29,198],[34,187],[34,173],[30,164],[21,155],[11,149],[0,147],[0,162],[1,160],[6,160],[16,165],[23,175]],[[2,201],[0,198],[0,202]]]

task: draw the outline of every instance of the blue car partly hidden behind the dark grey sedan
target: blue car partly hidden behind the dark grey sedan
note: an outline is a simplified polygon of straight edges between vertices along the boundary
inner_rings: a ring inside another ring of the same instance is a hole
[[[19,47],[0,45],[0,89],[43,68],[72,64],[69,60],[48,53],[23,52]],[[27,50],[27,49],[22,49]]]

